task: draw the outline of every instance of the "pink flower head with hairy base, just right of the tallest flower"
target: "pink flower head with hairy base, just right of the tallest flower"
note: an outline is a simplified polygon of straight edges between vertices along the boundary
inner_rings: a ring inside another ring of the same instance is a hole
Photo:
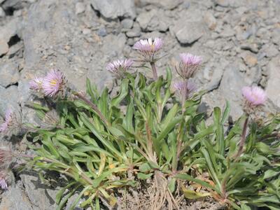
[[[190,53],[181,53],[179,56],[181,62],[179,67],[176,68],[177,73],[184,79],[191,78],[202,64],[202,57]]]

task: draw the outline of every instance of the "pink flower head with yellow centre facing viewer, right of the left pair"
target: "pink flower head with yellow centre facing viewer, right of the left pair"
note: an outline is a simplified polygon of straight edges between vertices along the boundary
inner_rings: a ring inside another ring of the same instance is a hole
[[[59,92],[62,92],[65,85],[64,74],[54,69],[43,78],[43,92],[46,96],[54,97]]]

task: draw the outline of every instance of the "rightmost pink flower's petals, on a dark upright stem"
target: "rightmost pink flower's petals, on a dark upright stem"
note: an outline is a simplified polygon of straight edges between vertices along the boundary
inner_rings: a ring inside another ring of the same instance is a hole
[[[265,103],[267,99],[267,94],[265,90],[262,90],[260,87],[243,87],[242,88],[242,95],[246,99],[251,106],[258,106]]]

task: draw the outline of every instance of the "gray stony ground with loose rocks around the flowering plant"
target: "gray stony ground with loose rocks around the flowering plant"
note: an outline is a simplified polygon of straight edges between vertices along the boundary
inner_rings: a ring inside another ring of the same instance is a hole
[[[28,81],[52,68],[82,90],[85,78],[112,87],[106,63],[134,57],[135,41],[158,36],[160,73],[174,69],[180,52],[203,57],[195,81],[208,90],[209,115],[228,100],[237,119],[241,87],[252,84],[267,90],[266,110],[279,111],[279,0],[0,0],[0,115],[12,107],[32,121]],[[0,209],[55,209],[55,191],[21,174],[1,194]]]

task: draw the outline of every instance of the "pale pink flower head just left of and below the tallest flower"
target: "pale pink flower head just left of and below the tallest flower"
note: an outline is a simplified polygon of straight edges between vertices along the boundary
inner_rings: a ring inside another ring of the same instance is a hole
[[[132,59],[117,59],[107,64],[106,69],[117,76],[123,77],[123,73],[132,66]]]

